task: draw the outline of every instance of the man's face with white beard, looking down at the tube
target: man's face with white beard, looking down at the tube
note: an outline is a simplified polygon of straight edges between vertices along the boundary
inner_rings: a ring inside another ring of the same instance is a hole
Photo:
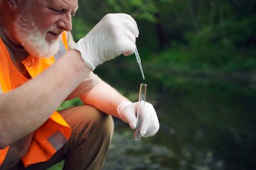
[[[71,31],[77,0],[23,1],[14,22],[15,37],[32,56],[47,57],[59,48],[61,33]]]

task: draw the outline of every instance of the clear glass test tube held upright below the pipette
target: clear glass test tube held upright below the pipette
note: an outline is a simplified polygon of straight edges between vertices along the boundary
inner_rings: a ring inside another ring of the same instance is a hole
[[[136,130],[135,130],[135,140],[140,140],[141,134],[141,123],[143,120],[143,110],[146,101],[146,92],[147,92],[147,84],[141,83],[139,88],[139,106],[137,107],[137,122],[136,122]]]

